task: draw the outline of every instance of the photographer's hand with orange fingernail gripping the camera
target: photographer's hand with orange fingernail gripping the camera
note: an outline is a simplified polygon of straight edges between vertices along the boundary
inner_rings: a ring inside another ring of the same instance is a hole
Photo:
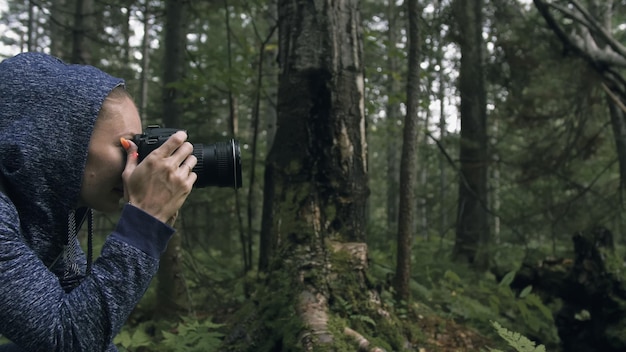
[[[128,141],[126,167],[122,172],[124,198],[148,214],[169,223],[191,192],[198,162],[187,134],[178,131],[138,163],[137,146]],[[125,143],[124,143],[125,144]],[[173,224],[173,221],[172,221]]]

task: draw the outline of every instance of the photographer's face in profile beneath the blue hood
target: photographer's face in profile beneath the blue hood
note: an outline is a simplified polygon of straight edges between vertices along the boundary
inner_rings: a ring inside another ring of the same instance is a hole
[[[133,101],[126,96],[107,98],[89,141],[81,206],[103,212],[119,209],[124,197],[122,171],[126,165],[126,151],[120,145],[120,137],[132,139],[139,133],[141,120]]]

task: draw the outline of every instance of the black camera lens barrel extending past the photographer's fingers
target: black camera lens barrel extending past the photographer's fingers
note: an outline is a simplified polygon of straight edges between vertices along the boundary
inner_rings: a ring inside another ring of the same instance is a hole
[[[207,186],[241,188],[241,150],[239,142],[194,144],[193,155],[198,159],[193,171],[198,175],[194,187]]]

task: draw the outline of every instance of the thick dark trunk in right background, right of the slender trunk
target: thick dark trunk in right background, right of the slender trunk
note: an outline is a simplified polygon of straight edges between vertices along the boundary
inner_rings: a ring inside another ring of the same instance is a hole
[[[489,266],[487,111],[483,73],[483,0],[456,0],[461,48],[460,183],[453,257],[479,270]]]

